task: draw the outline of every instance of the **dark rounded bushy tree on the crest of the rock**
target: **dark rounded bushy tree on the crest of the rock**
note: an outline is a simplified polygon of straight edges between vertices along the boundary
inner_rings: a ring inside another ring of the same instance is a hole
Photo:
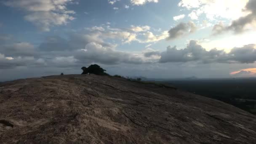
[[[82,67],[81,68],[83,70],[82,75],[85,74],[95,74],[95,75],[108,75],[105,71],[105,69],[102,69],[99,65],[97,64],[92,64],[91,66],[89,66],[88,68],[86,67]]]

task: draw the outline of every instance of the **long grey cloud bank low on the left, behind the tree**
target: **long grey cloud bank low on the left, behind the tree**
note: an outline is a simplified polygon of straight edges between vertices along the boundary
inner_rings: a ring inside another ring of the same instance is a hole
[[[72,35],[68,40],[57,36],[47,37],[38,48],[29,43],[0,45],[0,69],[20,66],[67,68],[91,63],[142,64],[152,62],[151,59],[145,58],[143,53],[117,51],[116,46],[96,40],[91,41],[82,34]]]

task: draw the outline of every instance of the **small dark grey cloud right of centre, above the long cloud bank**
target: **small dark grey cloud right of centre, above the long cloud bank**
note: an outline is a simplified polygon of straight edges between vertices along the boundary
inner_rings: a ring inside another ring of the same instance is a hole
[[[196,30],[197,27],[193,21],[189,21],[188,23],[181,22],[169,30],[169,37],[167,37],[167,40],[173,40],[183,35],[188,35]]]

